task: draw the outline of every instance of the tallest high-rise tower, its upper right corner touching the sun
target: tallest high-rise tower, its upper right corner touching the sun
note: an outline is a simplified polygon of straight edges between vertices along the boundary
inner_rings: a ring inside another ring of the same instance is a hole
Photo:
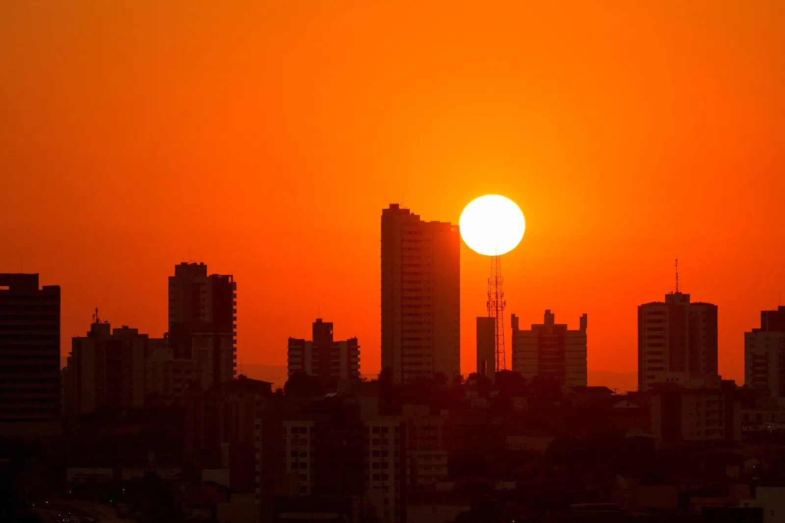
[[[382,209],[382,369],[397,383],[461,372],[458,227]]]

